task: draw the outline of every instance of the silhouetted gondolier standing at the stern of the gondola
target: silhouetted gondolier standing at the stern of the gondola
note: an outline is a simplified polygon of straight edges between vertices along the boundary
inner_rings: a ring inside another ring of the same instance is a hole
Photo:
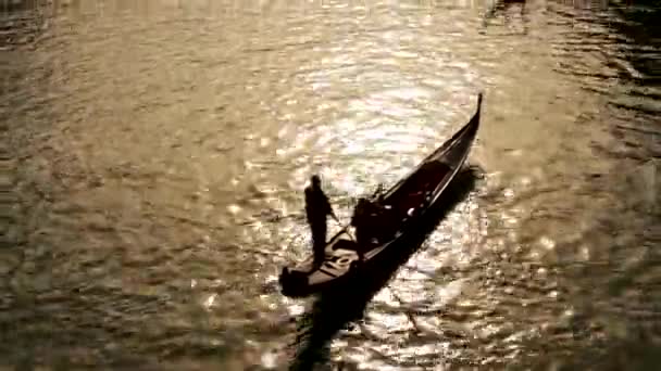
[[[312,232],[312,250],[314,252],[314,266],[324,260],[324,247],[326,246],[326,217],[332,216],[338,220],[333,213],[328,197],[322,190],[319,176],[310,178],[310,186],[305,188],[305,216]]]

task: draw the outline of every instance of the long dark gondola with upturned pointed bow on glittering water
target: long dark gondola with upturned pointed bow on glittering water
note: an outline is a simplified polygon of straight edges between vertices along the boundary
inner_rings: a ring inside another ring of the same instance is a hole
[[[463,166],[479,127],[481,108],[482,93],[477,95],[475,114],[463,128],[378,195],[383,213],[370,221],[370,226],[376,228],[357,230],[346,226],[326,244],[326,256],[321,266],[313,267],[313,258],[309,257],[294,268],[284,267],[279,277],[282,293],[301,297],[322,292],[374,266],[377,257],[385,255],[388,247],[396,246],[437,203]],[[357,233],[360,233],[360,240],[357,240]],[[369,234],[366,239],[363,238],[365,234]],[[359,261],[359,250],[363,253],[362,261]]]

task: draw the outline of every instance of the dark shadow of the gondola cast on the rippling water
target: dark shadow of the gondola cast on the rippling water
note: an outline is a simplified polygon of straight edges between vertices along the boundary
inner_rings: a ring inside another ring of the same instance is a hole
[[[457,174],[442,196],[429,209],[426,218],[412,228],[399,241],[397,248],[390,248],[387,259],[373,269],[361,272],[351,282],[325,291],[299,320],[296,358],[291,370],[310,370],[316,362],[328,360],[332,338],[351,321],[359,321],[367,303],[395,274],[397,269],[414,254],[436,229],[445,216],[475,189],[482,171],[465,167]]]

